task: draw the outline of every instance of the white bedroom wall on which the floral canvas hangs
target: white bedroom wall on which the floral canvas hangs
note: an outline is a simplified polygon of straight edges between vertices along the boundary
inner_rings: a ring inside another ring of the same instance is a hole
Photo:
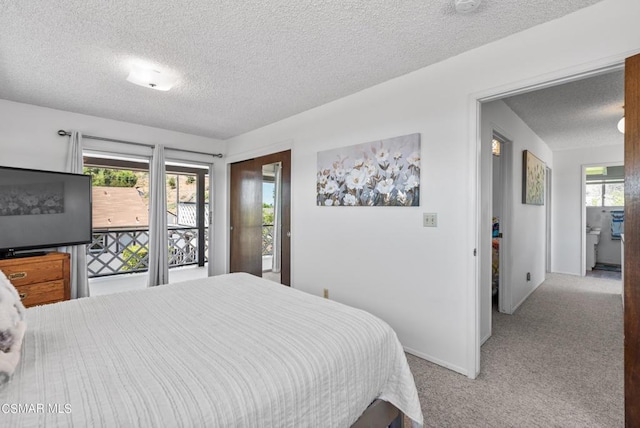
[[[229,140],[235,160],[292,149],[293,286],[317,295],[328,287],[333,299],[389,322],[410,352],[473,376],[475,94],[497,94],[628,56],[640,48],[639,15],[636,0],[605,0]],[[414,132],[422,135],[420,208],[315,206],[318,151]],[[218,207],[227,202],[226,188],[218,189]],[[423,212],[438,213],[437,228],[421,227]],[[226,251],[226,210],[216,216],[224,218],[216,227],[225,236],[217,241],[225,245],[219,250]],[[520,227],[528,227],[527,218]],[[537,261],[525,260],[527,254],[514,263],[518,271],[530,268],[532,282],[539,281],[543,273],[537,273]],[[543,260],[541,255],[542,269]]]

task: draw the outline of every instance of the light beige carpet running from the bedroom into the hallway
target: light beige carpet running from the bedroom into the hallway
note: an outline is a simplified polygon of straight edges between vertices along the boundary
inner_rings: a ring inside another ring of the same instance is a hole
[[[620,281],[551,274],[493,313],[476,380],[408,355],[426,427],[624,426]]]

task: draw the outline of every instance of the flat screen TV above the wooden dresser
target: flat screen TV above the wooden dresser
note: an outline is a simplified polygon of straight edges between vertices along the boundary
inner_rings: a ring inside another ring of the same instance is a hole
[[[90,176],[0,166],[0,257],[89,242]]]

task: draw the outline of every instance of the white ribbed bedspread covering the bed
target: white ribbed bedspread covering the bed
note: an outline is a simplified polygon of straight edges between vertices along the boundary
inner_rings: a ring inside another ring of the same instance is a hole
[[[422,424],[386,323],[248,274],[30,308],[27,323],[2,426],[349,427],[375,398]]]

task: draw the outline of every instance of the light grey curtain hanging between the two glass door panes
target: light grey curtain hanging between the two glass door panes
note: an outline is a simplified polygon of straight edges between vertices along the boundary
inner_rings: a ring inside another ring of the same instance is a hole
[[[169,282],[167,194],[164,146],[153,149],[149,165],[149,277],[147,287]]]

